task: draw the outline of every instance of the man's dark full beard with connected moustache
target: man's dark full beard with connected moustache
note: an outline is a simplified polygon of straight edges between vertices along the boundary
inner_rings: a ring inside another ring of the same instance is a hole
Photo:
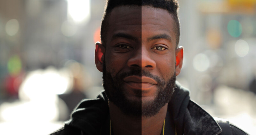
[[[174,70],[175,71],[175,70]],[[142,91],[132,90],[139,100],[131,100],[126,97],[124,91],[124,78],[131,75],[147,76],[157,82],[157,92],[153,100],[142,100]],[[106,95],[113,104],[115,104],[125,115],[134,117],[152,117],[168,103],[174,92],[176,76],[174,75],[164,81],[162,77],[152,75],[147,70],[141,68],[131,68],[130,71],[118,72],[112,76],[106,70],[105,60],[103,61],[103,88]]]

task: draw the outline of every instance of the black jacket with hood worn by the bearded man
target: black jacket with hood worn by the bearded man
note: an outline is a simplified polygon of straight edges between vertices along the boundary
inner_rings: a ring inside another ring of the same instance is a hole
[[[172,111],[171,111],[172,110]],[[190,100],[188,90],[176,83],[172,100],[168,103],[170,118],[177,135],[246,135],[223,119],[215,120]],[[82,100],[65,122],[65,126],[51,135],[108,135],[109,110],[105,92],[96,99]]]

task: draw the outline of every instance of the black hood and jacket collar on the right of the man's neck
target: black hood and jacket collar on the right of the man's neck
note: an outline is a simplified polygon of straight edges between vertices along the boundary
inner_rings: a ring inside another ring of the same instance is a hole
[[[178,135],[217,135],[219,124],[204,109],[190,100],[189,91],[176,81],[173,98],[168,104],[170,117]]]

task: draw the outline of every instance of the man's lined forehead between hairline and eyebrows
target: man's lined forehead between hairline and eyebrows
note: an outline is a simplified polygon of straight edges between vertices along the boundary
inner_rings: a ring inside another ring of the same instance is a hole
[[[108,19],[108,39],[116,33],[152,35],[165,33],[175,40],[174,20],[167,10],[150,6],[119,6],[112,10]],[[143,34],[144,33],[144,34]],[[140,35],[140,36],[139,36]]]

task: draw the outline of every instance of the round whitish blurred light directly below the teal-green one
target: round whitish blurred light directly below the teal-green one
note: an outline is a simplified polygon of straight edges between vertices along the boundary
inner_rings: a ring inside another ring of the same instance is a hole
[[[235,44],[235,51],[239,57],[244,57],[249,52],[249,45],[246,41],[239,39]]]

